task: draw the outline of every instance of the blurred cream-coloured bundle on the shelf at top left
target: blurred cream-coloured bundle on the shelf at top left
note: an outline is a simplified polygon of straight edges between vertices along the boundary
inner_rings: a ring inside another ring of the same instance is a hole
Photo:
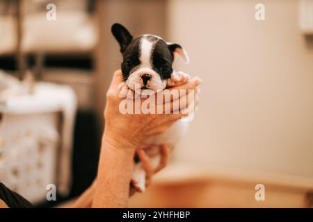
[[[1,1],[0,55],[14,53],[17,45],[15,1]],[[56,20],[46,19],[47,0],[27,0],[22,3],[22,51],[24,53],[89,52],[97,44],[95,16],[89,13],[90,1],[54,1]],[[60,35],[62,33],[62,35]]]

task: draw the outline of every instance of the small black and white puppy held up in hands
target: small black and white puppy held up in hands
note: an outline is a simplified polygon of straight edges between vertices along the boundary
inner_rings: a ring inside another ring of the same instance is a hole
[[[141,35],[134,38],[121,24],[113,24],[111,31],[120,44],[123,56],[122,74],[125,87],[135,90],[135,85],[141,89],[166,89],[186,83],[187,74],[172,69],[175,55],[188,63],[186,51],[179,44],[165,42],[156,35]],[[186,133],[188,122],[177,121],[165,133],[147,138],[147,147],[162,144],[175,146]],[[152,164],[157,167],[159,156],[152,158]],[[145,171],[141,162],[136,164],[132,183],[138,191],[145,190]]]

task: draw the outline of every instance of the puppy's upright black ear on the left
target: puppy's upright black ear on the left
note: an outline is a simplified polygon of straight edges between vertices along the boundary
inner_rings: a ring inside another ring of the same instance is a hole
[[[111,31],[115,39],[118,40],[120,51],[123,53],[131,40],[133,40],[133,36],[124,26],[118,23],[113,24]]]

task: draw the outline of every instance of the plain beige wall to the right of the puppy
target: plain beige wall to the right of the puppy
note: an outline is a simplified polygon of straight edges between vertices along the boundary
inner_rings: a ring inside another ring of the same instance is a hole
[[[264,3],[266,20],[255,20]],[[298,1],[169,0],[168,36],[202,78],[177,159],[313,177],[313,43]]]

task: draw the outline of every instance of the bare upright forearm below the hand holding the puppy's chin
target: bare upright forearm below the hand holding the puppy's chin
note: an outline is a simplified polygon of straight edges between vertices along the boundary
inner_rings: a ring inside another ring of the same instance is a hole
[[[105,132],[93,207],[127,207],[135,149],[124,147],[127,144],[115,144],[109,138],[109,133]]]

